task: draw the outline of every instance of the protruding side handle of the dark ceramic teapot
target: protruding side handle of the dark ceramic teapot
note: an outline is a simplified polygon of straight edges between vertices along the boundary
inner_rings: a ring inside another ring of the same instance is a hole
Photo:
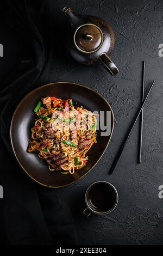
[[[99,59],[101,60],[104,68],[110,72],[112,76],[115,76],[118,74],[119,70],[116,67],[116,65],[112,62],[112,60],[109,58],[108,54],[103,53]]]

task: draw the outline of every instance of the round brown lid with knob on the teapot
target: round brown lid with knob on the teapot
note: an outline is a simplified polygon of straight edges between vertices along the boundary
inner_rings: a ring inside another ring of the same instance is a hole
[[[74,34],[74,43],[82,52],[95,52],[103,43],[103,33],[94,24],[84,24],[77,28]]]

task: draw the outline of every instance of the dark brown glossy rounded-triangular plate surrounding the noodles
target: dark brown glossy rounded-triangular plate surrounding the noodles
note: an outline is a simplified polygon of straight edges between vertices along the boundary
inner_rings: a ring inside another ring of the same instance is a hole
[[[55,96],[61,99],[72,98],[77,101],[77,106],[84,106],[90,111],[111,111],[111,134],[102,137],[100,131],[97,135],[97,144],[93,144],[87,155],[89,161],[82,169],[74,174],[61,174],[60,172],[51,172],[48,165],[40,159],[35,153],[27,153],[27,145],[30,140],[30,129],[34,125],[36,118],[33,109],[42,97]],[[47,187],[64,187],[81,179],[86,175],[101,159],[104,151],[108,147],[112,131],[114,129],[114,114],[109,103],[103,96],[94,90],[71,82],[57,82],[41,86],[23,98],[17,106],[11,120],[10,138],[12,149],[20,166],[30,178],[39,184]]]

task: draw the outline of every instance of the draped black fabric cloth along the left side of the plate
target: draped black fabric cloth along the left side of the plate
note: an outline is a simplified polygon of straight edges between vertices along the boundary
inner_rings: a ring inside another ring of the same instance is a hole
[[[0,43],[0,243],[76,245],[71,211],[59,190],[35,184],[22,171],[10,145],[10,121],[18,102],[46,82],[51,32],[46,1],[1,1]],[[46,69],[45,69],[46,67]]]

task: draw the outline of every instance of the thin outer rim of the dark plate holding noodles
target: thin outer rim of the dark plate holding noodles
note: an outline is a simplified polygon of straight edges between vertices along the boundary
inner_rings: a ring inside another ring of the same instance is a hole
[[[105,147],[105,149],[104,149],[102,155],[99,157],[98,161],[97,161],[95,164],[93,164],[93,166],[89,169],[88,172],[86,172],[84,175],[80,176],[78,180],[73,180],[72,182],[70,182],[70,183],[68,183],[68,184],[66,184],[66,185],[61,185],[61,186],[49,186],[49,185],[45,185],[45,184],[41,183],[40,181],[35,180],[35,179],[27,172],[27,170],[22,166],[22,164],[21,164],[20,161],[18,160],[18,157],[17,157],[16,152],[15,152],[15,150],[14,150],[14,145],[13,145],[13,142],[12,142],[12,124],[13,124],[14,117],[15,117],[15,115],[16,115],[16,112],[17,112],[18,107],[19,107],[19,106],[21,105],[21,103],[26,99],[27,96],[29,96],[29,95],[32,94],[33,92],[36,92],[37,90],[39,90],[39,89],[41,89],[41,88],[43,88],[43,87],[47,87],[47,86],[51,86],[51,85],[54,85],[54,86],[55,86],[55,85],[58,85],[58,84],[61,84],[61,83],[67,83],[67,84],[72,85],[72,86],[84,87],[84,88],[86,88],[86,89],[91,90],[91,92],[96,93],[98,96],[100,96],[100,97],[106,102],[106,104],[110,107],[110,110],[111,110],[111,113],[112,113],[112,118],[113,118],[113,123],[112,123],[112,131],[111,131],[111,133],[110,133],[109,141],[108,141],[108,143],[107,143],[107,145],[106,145],[106,147]],[[103,95],[101,95],[100,93],[96,92],[96,90],[94,90],[94,89],[92,89],[92,88],[90,88],[90,87],[84,86],[83,84],[76,83],[76,82],[70,82],[70,81],[60,81],[60,82],[47,83],[47,84],[44,84],[43,86],[39,86],[39,87],[35,88],[34,90],[32,90],[31,92],[29,92],[28,94],[26,94],[26,95],[22,98],[22,100],[18,103],[18,105],[16,106],[15,111],[14,111],[14,113],[12,114],[11,123],[10,123],[10,143],[11,143],[12,151],[14,152],[14,155],[15,155],[15,158],[16,158],[18,164],[20,164],[20,167],[22,168],[22,170],[24,171],[24,173],[26,173],[26,174],[29,176],[30,179],[32,179],[32,180],[35,181],[37,184],[40,184],[40,185],[43,186],[43,187],[48,187],[48,188],[67,187],[67,186],[72,185],[74,182],[79,181],[80,179],[82,179],[87,173],[90,172],[90,170],[92,170],[92,169],[96,166],[96,164],[99,162],[99,160],[101,160],[102,156],[104,155],[104,153],[105,153],[105,151],[106,151],[106,149],[108,148],[108,145],[109,145],[109,143],[110,143],[110,139],[111,139],[111,137],[112,137],[112,133],[113,133],[113,130],[114,130],[114,124],[115,124],[114,113],[113,113],[113,111],[112,111],[112,108],[111,108],[109,102],[105,99],[105,97],[104,97]]]

